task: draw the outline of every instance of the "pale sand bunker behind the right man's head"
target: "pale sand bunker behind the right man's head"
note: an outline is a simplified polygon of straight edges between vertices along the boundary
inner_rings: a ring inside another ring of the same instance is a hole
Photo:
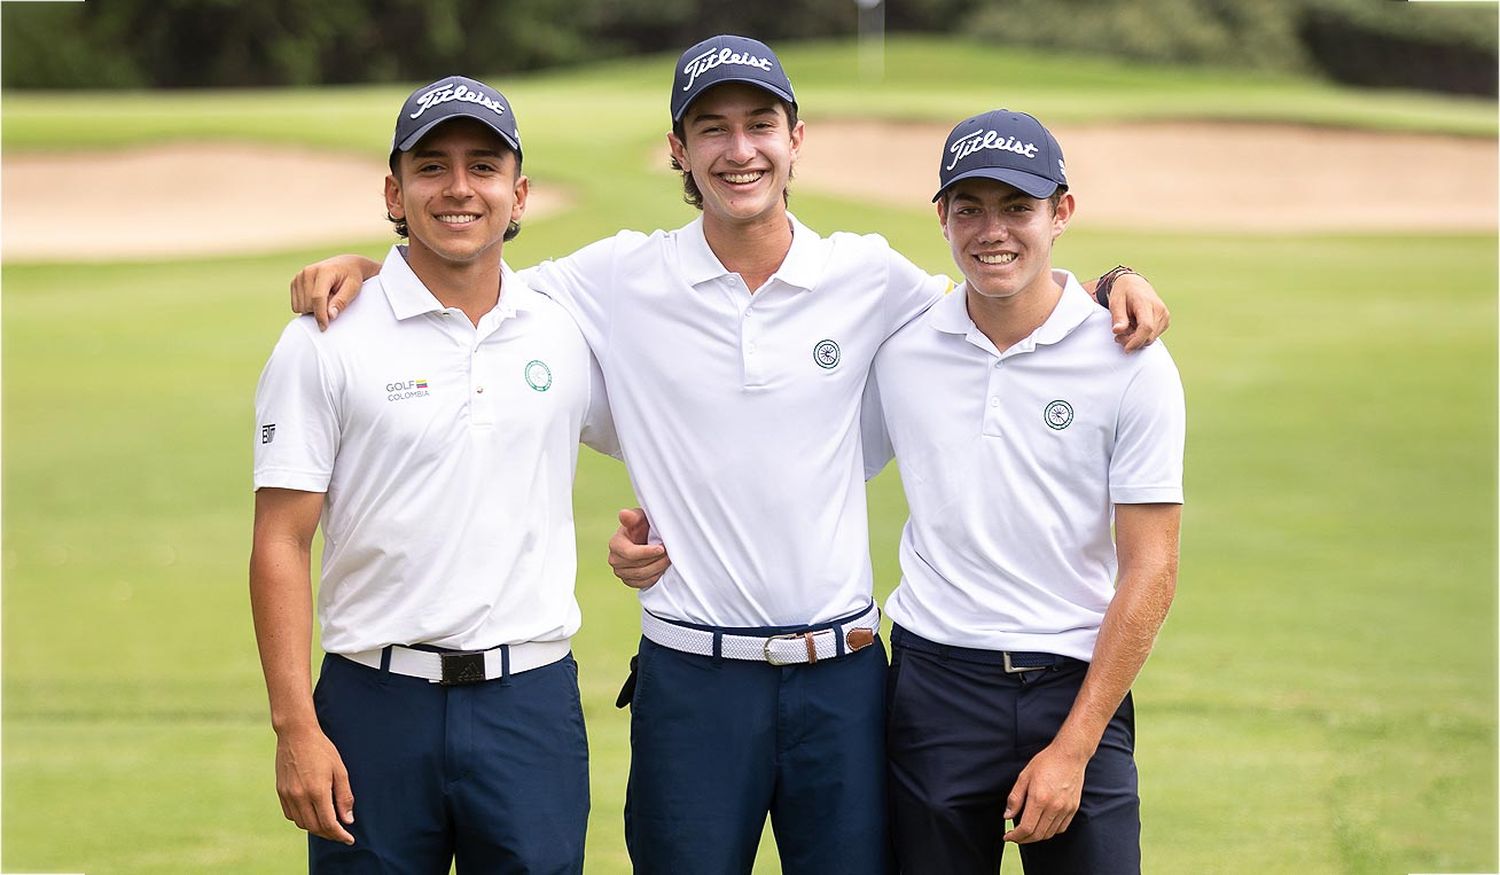
[[[942,125],[819,122],[796,188],[926,203]],[[1496,143],[1290,125],[1054,128],[1088,227],[1173,231],[1490,231]]]

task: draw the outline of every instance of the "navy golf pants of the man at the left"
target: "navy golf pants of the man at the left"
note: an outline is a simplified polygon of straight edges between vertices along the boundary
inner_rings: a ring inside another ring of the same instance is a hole
[[[354,845],[309,836],[315,875],[584,872],[588,740],[578,665],[440,686],[322,660],[322,731],[354,791]]]

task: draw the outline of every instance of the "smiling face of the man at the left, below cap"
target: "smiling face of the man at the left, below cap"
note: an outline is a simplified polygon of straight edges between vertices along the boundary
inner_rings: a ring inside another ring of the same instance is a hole
[[[454,119],[399,155],[386,209],[405,219],[412,269],[500,263],[506,228],[526,210],[516,153],[488,126]],[[418,276],[420,276],[418,270]]]

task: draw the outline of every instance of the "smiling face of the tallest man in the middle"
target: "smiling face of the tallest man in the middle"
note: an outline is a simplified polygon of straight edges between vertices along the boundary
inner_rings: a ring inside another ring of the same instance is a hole
[[[802,123],[789,122],[778,98],[744,83],[714,86],[682,114],[681,132],[668,134],[668,146],[704,195],[705,222],[784,221]]]

